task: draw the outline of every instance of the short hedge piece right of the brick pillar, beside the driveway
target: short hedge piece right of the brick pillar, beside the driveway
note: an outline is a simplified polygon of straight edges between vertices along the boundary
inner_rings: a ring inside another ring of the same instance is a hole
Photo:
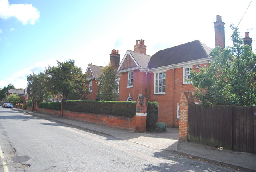
[[[157,127],[158,103],[148,102],[147,109],[147,130],[154,130]]]

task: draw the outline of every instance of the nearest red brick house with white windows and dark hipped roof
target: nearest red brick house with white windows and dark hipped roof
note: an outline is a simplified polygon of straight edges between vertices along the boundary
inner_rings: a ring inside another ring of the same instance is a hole
[[[214,22],[215,42],[216,46],[222,48],[225,48],[224,24],[218,15]],[[182,92],[195,92],[194,86],[187,82],[190,71],[209,66],[213,60],[209,55],[211,51],[210,47],[195,40],[160,50],[150,56],[146,54],[145,41],[136,40],[134,51],[127,50],[118,67],[120,101],[134,101],[138,94],[145,94],[148,101],[159,103],[159,122],[179,126],[180,96]],[[95,77],[90,77],[94,87]],[[95,96],[90,95],[94,100]]]

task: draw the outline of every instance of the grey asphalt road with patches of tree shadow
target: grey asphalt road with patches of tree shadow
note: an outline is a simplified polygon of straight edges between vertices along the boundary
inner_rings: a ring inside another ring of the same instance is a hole
[[[234,171],[2,106],[0,157],[0,172]]]

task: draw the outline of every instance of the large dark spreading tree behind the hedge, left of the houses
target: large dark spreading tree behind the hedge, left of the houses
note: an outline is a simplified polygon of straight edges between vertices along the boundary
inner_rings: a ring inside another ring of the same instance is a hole
[[[68,100],[68,94],[71,92],[77,92],[81,96],[87,93],[87,76],[82,73],[82,68],[78,68],[75,65],[74,60],[66,62],[57,61],[57,66],[48,66],[45,74],[48,77],[48,89],[62,93],[64,100]]]

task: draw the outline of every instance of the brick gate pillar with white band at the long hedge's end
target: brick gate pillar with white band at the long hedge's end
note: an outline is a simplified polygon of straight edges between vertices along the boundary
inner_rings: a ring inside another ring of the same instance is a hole
[[[145,95],[139,94],[136,100],[135,130],[146,132],[148,100]]]

